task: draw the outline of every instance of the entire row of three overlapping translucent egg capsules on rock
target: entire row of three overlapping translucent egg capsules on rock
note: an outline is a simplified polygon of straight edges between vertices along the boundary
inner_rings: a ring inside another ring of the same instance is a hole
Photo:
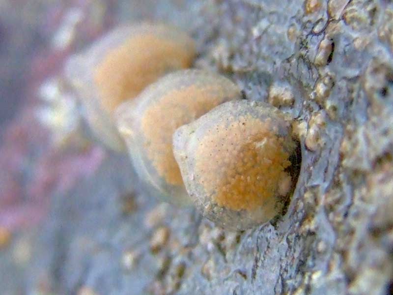
[[[221,75],[185,70],[195,55],[172,27],[122,26],[71,58],[66,74],[92,132],[109,148],[127,146],[157,196],[244,230],[282,212],[297,143],[278,109],[242,100]]]

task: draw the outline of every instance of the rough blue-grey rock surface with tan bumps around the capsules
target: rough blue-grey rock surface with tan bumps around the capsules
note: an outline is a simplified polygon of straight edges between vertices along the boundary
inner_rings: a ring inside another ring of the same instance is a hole
[[[20,288],[390,294],[393,4],[135,0],[118,9],[122,21],[147,16],[190,30],[197,67],[227,74],[248,99],[274,102],[296,117],[303,158],[297,188],[284,216],[234,233],[193,210],[158,203],[126,158],[111,156],[94,176],[54,197],[49,221],[30,237],[34,254]],[[0,286],[18,271],[8,254],[0,254]]]

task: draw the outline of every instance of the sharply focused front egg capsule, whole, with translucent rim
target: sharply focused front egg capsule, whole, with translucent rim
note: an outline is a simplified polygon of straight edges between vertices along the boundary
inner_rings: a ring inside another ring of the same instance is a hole
[[[218,106],[178,128],[173,151],[197,208],[230,229],[281,213],[297,180],[290,172],[297,152],[290,118],[265,103]]]

